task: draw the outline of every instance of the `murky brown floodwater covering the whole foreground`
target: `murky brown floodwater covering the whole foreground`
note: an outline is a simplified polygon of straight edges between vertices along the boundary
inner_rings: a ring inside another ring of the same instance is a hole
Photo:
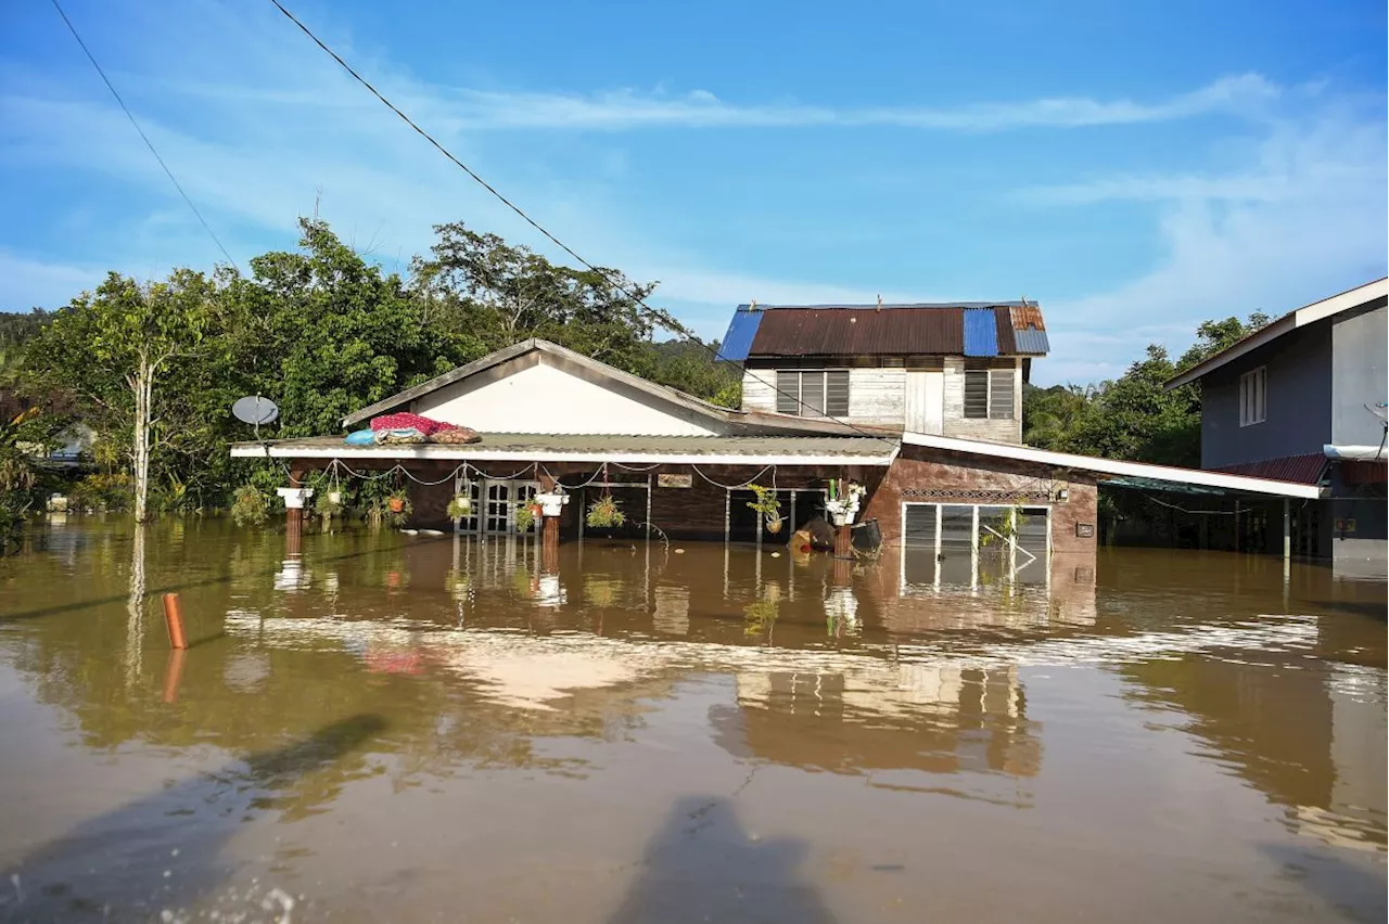
[[[1389,583],[539,559],[38,529],[0,561],[0,918],[1389,920]]]

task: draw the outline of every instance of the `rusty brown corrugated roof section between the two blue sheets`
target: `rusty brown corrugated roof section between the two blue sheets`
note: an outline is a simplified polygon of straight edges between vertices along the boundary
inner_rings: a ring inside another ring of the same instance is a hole
[[[775,308],[763,314],[754,357],[963,355],[961,308]]]

